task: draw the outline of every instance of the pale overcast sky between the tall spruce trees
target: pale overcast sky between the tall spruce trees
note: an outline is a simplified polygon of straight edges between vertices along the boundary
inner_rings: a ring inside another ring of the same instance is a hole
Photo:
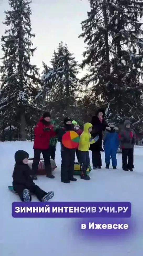
[[[4,21],[4,11],[9,9],[8,0],[0,0],[0,22]],[[81,63],[84,51],[83,39],[78,35],[82,32],[80,22],[87,18],[88,0],[33,0],[32,32],[35,33],[34,47],[37,47],[33,64],[42,67],[42,61],[50,65],[52,54],[60,41],[67,43],[76,61]],[[0,24],[0,37],[6,26]],[[0,58],[3,52],[0,47]],[[42,71],[42,69],[40,69]],[[81,73],[82,75],[82,73]],[[80,76],[81,76],[80,75]]]

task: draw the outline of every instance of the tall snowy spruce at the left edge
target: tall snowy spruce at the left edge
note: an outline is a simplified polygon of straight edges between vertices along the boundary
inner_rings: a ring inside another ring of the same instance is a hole
[[[34,107],[38,68],[30,63],[36,48],[31,38],[31,1],[8,0],[10,11],[5,11],[7,29],[1,38],[3,65],[1,85],[1,114],[9,113],[10,119],[20,122],[22,139],[26,139],[26,124]]]

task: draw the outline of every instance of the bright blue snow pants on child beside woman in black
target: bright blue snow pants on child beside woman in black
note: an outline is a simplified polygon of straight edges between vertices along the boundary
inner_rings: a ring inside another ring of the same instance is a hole
[[[110,165],[110,159],[111,159],[112,166],[116,167],[117,166],[116,150],[113,148],[108,148],[108,149],[104,148],[104,152],[105,152],[105,164]]]

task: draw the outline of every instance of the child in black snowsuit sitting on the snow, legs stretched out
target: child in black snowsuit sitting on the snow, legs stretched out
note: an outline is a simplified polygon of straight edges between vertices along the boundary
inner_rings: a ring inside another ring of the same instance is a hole
[[[35,194],[39,201],[47,202],[53,198],[54,191],[45,192],[40,189],[30,176],[30,167],[28,165],[29,155],[23,150],[18,150],[15,153],[15,167],[13,171],[13,189],[18,193],[23,202],[31,201],[31,193]]]

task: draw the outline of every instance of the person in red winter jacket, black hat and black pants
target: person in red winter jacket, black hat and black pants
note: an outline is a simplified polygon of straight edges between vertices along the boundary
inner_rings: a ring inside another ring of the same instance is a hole
[[[51,137],[56,135],[53,125],[51,125],[51,115],[49,112],[45,112],[43,117],[40,118],[39,122],[34,128],[34,159],[32,164],[31,176],[33,180],[37,180],[37,169],[40,161],[40,155],[42,153],[44,158],[46,177],[55,178],[52,175],[51,162],[50,162],[50,150],[49,144]]]

